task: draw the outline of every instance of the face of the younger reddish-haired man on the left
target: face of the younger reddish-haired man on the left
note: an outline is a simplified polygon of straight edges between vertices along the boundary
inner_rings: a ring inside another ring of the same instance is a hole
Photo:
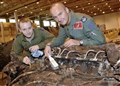
[[[33,28],[30,22],[20,22],[20,32],[23,33],[23,35],[26,38],[31,38],[33,35]]]

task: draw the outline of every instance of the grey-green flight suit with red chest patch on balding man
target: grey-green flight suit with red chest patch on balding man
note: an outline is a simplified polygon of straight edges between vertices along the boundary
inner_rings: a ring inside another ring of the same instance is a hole
[[[70,17],[71,21],[68,25],[60,26],[58,37],[54,38],[51,42],[52,47],[62,45],[66,38],[82,40],[83,46],[105,43],[104,34],[90,16],[71,11]]]

